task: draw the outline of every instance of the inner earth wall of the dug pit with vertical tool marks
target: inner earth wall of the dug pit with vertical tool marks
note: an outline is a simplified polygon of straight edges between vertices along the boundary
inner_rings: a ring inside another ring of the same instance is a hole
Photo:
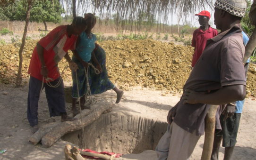
[[[166,122],[120,112],[110,112],[102,114],[97,120],[96,148],[94,148],[95,122],[84,128],[86,147],[81,144],[80,140],[82,130],[68,133],[62,139],[76,144],[80,148],[92,149],[97,152],[140,153],[145,150],[154,150],[166,128]]]

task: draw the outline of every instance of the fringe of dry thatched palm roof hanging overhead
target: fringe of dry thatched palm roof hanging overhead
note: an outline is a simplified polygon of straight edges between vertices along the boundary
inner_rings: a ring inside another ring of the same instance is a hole
[[[15,0],[0,0],[0,5],[11,3]],[[22,0],[28,1],[28,0]],[[33,0],[32,0],[33,1]],[[66,4],[67,12],[72,12],[72,2],[77,2],[77,10],[86,12],[88,8],[94,12],[99,12],[100,18],[107,20],[112,14],[116,14],[117,27],[132,27],[133,22],[140,25],[139,15],[145,13],[146,16],[155,16],[161,22],[166,22],[170,13],[179,13],[182,16],[193,14],[196,9],[210,6],[213,8],[215,0],[59,0]]]

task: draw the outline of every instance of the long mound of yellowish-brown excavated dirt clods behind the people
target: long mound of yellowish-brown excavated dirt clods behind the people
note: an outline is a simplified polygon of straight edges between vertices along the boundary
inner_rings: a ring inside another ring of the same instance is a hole
[[[22,77],[26,73],[37,40],[27,40],[24,48]],[[113,83],[124,90],[134,86],[181,93],[191,71],[192,47],[174,45],[157,40],[116,40],[99,43],[107,54],[107,69]],[[19,45],[0,46],[0,84],[15,82]],[[70,54],[71,55],[71,54]],[[62,60],[60,71],[67,66]],[[72,81],[69,69],[63,79]],[[250,64],[247,78],[247,96],[256,96],[256,65]]]

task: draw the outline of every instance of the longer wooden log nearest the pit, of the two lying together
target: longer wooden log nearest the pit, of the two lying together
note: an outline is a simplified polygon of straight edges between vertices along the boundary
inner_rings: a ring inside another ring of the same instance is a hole
[[[86,117],[83,117],[83,127],[92,123],[95,119],[99,118],[103,112],[110,110],[112,106],[113,104],[107,105],[106,102],[102,102],[102,105],[98,105],[97,107],[95,107],[95,117],[94,111]],[[56,127],[52,128],[50,132],[43,136],[42,144],[44,147],[50,147],[52,144],[58,141],[61,136],[64,136],[69,132],[73,132],[79,129],[82,129],[81,119],[75,121],[62,122],[60,123],[60,125],[57,125]]]

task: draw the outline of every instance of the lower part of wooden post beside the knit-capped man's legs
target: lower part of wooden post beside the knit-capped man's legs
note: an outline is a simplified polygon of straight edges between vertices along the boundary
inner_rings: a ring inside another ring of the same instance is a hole
[[[219,105],[211,105],[205,117],[205,142],[201,160],[210,160],[213,151],[215,115]]]

